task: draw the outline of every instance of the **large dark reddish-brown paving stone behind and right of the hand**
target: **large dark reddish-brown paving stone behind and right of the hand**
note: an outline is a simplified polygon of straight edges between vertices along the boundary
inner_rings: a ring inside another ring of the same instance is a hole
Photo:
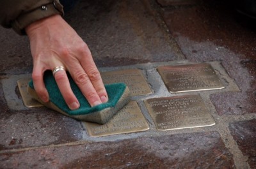
[[[183,59],[147,1],[80,1],[65,15],[99,67]]]

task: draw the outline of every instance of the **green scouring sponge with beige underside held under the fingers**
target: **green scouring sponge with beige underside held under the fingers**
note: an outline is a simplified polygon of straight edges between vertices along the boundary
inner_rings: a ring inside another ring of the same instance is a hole
[[[56,110],[57,112],[60,112],[61,114],[65,114],[80,121],[97,122],[99,124],[105,124],[108,122],[109,119],[111,119],[111,117],[113,117],[118,110],[124,107],[131,98],[129,89],[124,83],[109,84],[105,85],[106,91],[108,92],[109,101],[107,103],[102,103],[95,107],[91,107],[86,98],[84,98],[79,87],[77,87],[74,80],[72,80],[69,73],[67,73],[67,75],[71,89],[80,103],[80,107],[77,110],[70,110],[68,108],[51,71],[45,71],[44,73],[44,83],[49,93],[49,102],[44,103],[38,98],[32,80],[29,82],[28,92],[33,98],[40,101],[40,103],[46,107]]]

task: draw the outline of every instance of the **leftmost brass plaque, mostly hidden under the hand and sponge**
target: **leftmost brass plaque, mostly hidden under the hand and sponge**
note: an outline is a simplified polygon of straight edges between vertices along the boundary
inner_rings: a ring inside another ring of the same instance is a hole
[[[17,81],[22,101],[26,107],[42,107],[43,105],[33,99],[27,91],[30,80],[31,78],[22,78]]]

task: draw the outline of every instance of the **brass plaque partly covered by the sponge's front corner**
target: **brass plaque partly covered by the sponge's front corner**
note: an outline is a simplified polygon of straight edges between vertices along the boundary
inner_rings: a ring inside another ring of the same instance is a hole
[[[149,129],[148,123],[141,113],[136,101],[130,101],[106,124],[83,122],[89,136],[108,136]]]

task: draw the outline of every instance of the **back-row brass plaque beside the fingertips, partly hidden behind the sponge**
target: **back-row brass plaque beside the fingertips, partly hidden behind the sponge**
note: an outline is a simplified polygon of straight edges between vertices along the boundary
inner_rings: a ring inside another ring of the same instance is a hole
[[[101,72],[104,84],[124,82],[131,91],[131,96],[151,94],[152,91],[141,70],[118,70]]]

